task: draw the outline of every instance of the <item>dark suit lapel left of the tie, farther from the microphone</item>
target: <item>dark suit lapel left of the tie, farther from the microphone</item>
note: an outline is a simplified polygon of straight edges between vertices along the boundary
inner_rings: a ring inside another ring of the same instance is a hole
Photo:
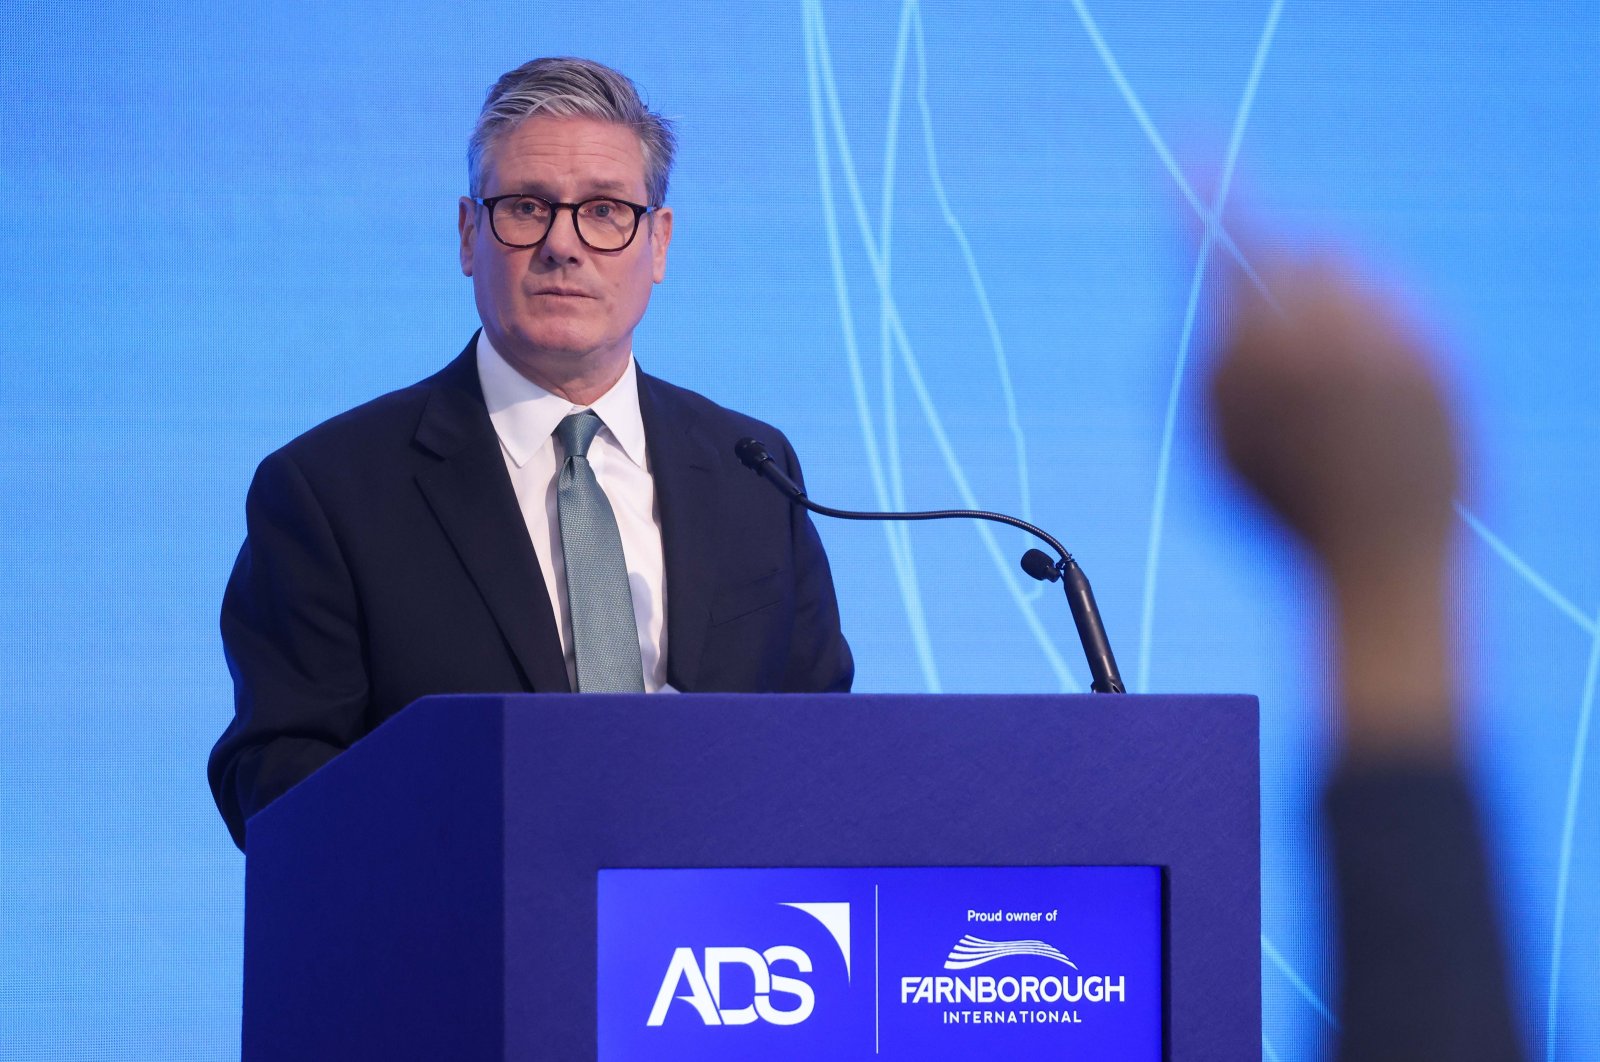
[[[478,384],[477,337],[434,377],[416,481],[536,693],[570,693],[562,638]]]

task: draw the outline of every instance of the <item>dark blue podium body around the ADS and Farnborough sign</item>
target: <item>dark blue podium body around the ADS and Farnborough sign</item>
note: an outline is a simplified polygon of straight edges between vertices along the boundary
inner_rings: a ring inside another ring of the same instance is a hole
[[[606,868],[1074,865],[1160,868],[1162,1057],[1261,1057],[1258,758],[1246,696],[426,697],[250,820],[243,1057],[595,1057]]]

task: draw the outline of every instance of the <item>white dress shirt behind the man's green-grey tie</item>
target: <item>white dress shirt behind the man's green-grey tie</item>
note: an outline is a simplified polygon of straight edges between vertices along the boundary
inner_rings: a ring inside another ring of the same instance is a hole
[[[622,536],[627,560],[627,589],[634,597],[634,621],[638,625],[638,661],[645,672],[645,691],[670,691],[667,686],[667,577],[661,552],[661,512],[656,507],[656,481],[650,475],[645,451],[645,422],[638,413],[638,368],[629,353],[622,379],[589,406],[574,406],[552,395],[514,369],[490,337],[478,333],[478,382],[490,408],[490,421],[499,435],[506,472],[510,473],[517,504],[533,552],[544,573],[544,589],[555,608],[555,625],[562,632],[562,654],[566,657],[566,680],[578,689],[578,665],[573,654],[573,613],[566,600],[566,561],[562,552],[562,525],[557,510],[555,481],[566,454],[555,440],[555,425],[570,413],[594,409],[605,427],[589,446],[600,489],[616,513],[616,529]]]

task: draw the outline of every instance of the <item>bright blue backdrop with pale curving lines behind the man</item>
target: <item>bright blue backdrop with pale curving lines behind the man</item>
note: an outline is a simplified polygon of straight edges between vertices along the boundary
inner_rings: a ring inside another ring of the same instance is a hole
[[[1301,558],[1197,419],[1206,305],[1248,259],[1195,242],[1195,205],[1381,262],[1470,419],[1467,707],[1528,1040],[1600,1059],[1600,14],[1576,0],[6,5],[0,1056],[237,1051],[243,860],[203,763],[245,486],[461,349],[467,131],[494,77],[563,53],[680,122],[646,368],[784,425],[819,499],[1054,529],[1131,688],[1261,694],[1269,1059],[1333,1024],[1325,675]],[[1019,537],[822,536],[859,688],[1085,686]]]

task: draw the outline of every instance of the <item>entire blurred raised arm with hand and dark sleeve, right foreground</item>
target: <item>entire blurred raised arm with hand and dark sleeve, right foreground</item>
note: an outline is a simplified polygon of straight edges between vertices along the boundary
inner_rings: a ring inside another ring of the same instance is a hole
[[[1334,611],[1325,795],[1341,1059],[1518,1059],[1490,875],[1456,761],[1454,425],[1422,344],[1334,267],[1235,297],[1211,377],[1227,461],[1309,547]]]

